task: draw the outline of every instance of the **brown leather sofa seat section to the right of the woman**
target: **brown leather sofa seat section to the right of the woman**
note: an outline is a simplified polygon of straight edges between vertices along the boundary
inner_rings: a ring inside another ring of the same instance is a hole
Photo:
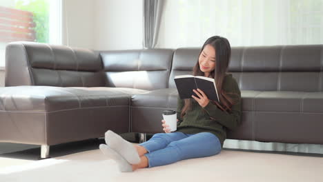
[[[242,90],[242,125],[228,138],[250,131],[255,141],[322,143],[322,108],[323,92]]]

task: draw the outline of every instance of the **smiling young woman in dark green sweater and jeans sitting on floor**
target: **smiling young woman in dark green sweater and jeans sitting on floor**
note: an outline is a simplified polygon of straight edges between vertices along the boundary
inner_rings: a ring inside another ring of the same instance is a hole
[[[101,144],[100,150],[117,161],[121,172],[219,154],[227,130],[237,128],[241,116],[240,90],[232,74],[227,73],[230,57],[228,40],[210,37],[193,68],[195,76],[215,79],[219,102],[209,100],[203,90],[193,90],[198,97],[177,99],[177,131],[169,132],[162,120],[165,133],[154,134],[150,140],[134,145],[108,130],[107,145]]]

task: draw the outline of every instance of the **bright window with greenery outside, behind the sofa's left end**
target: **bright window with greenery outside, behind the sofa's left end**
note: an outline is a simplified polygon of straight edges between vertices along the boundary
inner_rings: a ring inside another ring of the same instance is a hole
[[[61,44],[61,0],[1,0],[0,68],[12,41]]]

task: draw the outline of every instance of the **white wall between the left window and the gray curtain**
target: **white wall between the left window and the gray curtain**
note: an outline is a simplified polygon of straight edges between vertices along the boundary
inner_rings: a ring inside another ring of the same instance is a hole
[[[94,50],[142,48],[142,0],[63,1],[63,45]]]

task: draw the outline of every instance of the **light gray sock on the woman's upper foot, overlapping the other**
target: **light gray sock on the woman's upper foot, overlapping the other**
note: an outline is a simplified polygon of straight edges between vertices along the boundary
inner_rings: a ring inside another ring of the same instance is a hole
[[[140,163],[140,156],[133,145],[133,143],[130,143],[126,141],[125,139],[122,139],[121,136],[118,134],[115,134],[115,132],[112,132],[111,130],[108,130],[105,134],[106,136],[106,144],[115,150],[115,152],[118,152],[121,156],[128,161],[130,164],[136,164]]]

